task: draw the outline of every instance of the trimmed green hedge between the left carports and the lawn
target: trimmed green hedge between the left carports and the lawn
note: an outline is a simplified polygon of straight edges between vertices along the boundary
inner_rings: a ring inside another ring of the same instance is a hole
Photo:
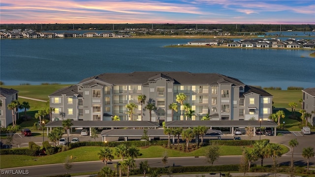
[[[145,147],[145,146],[153,146],[153,145],[167,145],[167,140],[159,140],[159,141],[124,141],[124,142],[78,142],[78,143],[70,143],[69,148],[79,148],[82,146],[99,146],[99,147],[117,147],[118,145],[126,145],[126,146],[135,146],[135,147]]]

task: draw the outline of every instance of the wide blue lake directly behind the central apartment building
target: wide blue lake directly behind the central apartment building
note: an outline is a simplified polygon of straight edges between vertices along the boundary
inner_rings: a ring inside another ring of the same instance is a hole
[[[5,85],[76,84],[101,73],[220,73],[247,85],[315,87],[314,51],[165,48],[194,39],[71,38],[0,40]]]

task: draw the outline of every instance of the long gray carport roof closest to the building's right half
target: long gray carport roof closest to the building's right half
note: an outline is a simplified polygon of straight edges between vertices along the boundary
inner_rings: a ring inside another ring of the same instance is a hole
[[[259,120],[173,120],[166,122],[166,127],[259,127]],[[277,123],[273,121],[261,120],[262,127],[277,127]]]

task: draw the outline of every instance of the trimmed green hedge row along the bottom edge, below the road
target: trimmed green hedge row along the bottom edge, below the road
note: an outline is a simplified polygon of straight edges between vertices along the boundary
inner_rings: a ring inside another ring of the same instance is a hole
[[[162,174],[169,173],[169,168],[150,168],[150,170],[157,170]],[[189,167],[171,167],[172,174],[177,173],[192,173],[192,172],[235,172],[239,171],[239,165],[218,165],[218,166],[189,166]],[[139,169],[134,169],[131,171],[130,175],[141,175]],[[143,175],[143,174],[142,174]]]

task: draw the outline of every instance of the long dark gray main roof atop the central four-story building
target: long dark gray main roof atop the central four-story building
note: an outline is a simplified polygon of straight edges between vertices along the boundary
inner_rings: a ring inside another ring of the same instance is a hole
[[[209,85],[211,83],[224,80],[234,85],[245,85],[240,80],[224,76],[217,73],[190,73],[190,72],[132,72],[132,73],[104,73],[82,80],[80,84],[85,84],[93,79],[115,85],[142,85],[148,81],[161,77],[174,81],[174,84],[181,85]]]

